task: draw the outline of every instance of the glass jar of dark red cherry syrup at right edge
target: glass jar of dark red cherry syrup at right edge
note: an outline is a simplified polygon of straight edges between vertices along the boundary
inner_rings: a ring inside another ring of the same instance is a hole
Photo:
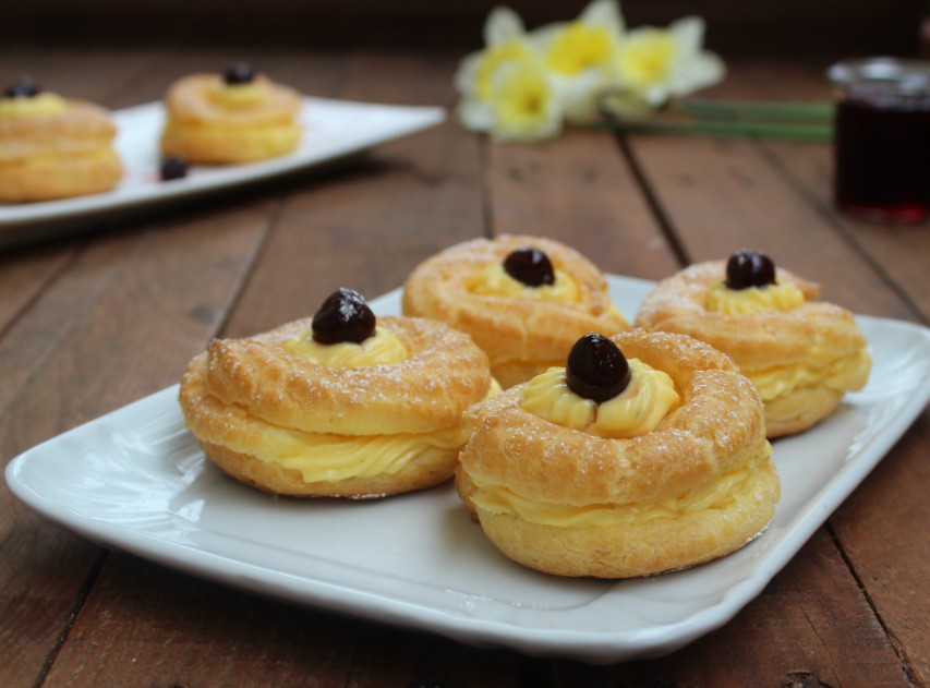
[[[834,201],[880,221],[930,215],[930,62],[872,58],[830,68]]]

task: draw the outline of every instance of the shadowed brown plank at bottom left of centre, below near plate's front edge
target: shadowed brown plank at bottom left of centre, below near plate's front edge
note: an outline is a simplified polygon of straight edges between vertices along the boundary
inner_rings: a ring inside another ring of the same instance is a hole
[[[497,665],[493,650],[463,652],[440,638],[269,601],[120,553],[107,567],[120,576],[95,587],[48,688],[116,676],[129,686],[518,685],[488,671]]]

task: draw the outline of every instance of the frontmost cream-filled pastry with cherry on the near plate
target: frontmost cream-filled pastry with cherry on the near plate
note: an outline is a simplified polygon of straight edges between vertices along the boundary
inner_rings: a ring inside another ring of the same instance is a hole
[[[630,578],[724,556],[769,523],[780,482],[762,401],[720,351],[632,329],[467,414],[456,485],[508,557]]]

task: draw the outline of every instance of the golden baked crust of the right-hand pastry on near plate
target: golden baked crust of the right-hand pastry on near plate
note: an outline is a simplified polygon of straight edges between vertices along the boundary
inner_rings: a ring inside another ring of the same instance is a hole
[[[826,370],[849,362],[850,370],[824,381],[801,384],[775,399],[765,399],[769,437],[807,430],[829,417],[845,391],[861,388],[870,360],[867,341],[853,314],[838,305],[814,301],[820,286],[777,268],[778,283],[795,285],[805,303],[788,311],[730,315],[706,309],[708,290],[722,282],[726,262],[692,265],[662,280],[641,304],[636,326],[690,335],[728,354],[748,377],[775,369],[809,366]]]

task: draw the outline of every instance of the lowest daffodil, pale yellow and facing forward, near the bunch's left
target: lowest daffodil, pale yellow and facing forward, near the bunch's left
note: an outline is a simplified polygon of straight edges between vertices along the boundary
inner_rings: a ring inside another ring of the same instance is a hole
[[[545,65],[536,58],[503,64],[491,101],[491,135],[500,142],[533,142],[561,131],[561,107]]]

